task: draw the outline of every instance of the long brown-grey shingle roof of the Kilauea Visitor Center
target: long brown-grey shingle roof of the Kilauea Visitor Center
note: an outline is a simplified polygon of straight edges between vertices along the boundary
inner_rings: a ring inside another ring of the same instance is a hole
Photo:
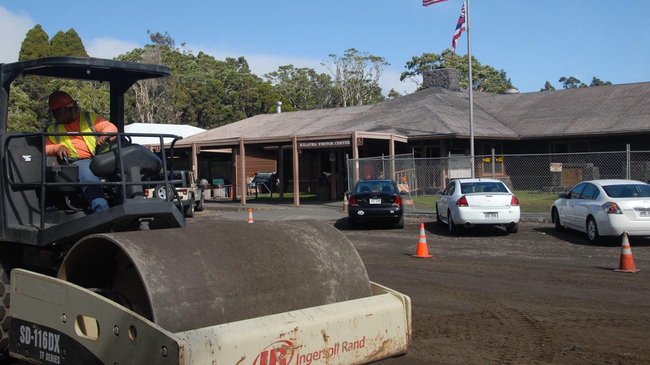
[[[261,114],[183,142],[352,131],[409,138],[469,135],[469,93],[434,86],[375,105]],[[650,82],[532,92],[473,92],[474,136],[519,138],[650,131]]]

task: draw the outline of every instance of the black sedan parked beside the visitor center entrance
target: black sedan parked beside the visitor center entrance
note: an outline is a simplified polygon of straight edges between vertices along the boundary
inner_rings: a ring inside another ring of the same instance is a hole
[[[392,180],[361,180],[347,193],[348,228],[359,222],[388,221],[404,228],[404,205],[397,184]]]

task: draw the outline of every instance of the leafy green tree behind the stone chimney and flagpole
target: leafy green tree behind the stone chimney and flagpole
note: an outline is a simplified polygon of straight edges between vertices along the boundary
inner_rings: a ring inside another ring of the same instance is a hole
[[[447,48],[442,53],[422,53],[421,57],[413,56],[406,62],[404,68],[408,71],[402,72],[400,81],[409,79],[418,85],[417,90],[422,90],[422,72],[438,68],[460,69],[460,87],[469,88],[469,67],[467,66],[467,55],[451,59],[452,50]],[[508,78],[506,71],[497,70],[489,65],[483,65],[476,57],[472,57],[472,90],[482,92],[501,93],[506,89],[513,88],[512,81]]]

